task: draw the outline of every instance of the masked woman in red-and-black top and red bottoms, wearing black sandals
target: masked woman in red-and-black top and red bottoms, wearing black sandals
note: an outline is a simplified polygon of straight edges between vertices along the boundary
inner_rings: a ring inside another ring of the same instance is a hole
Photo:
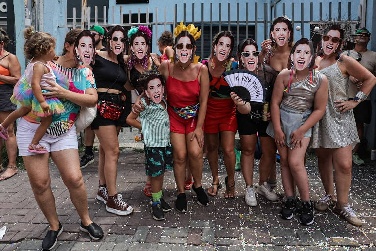
[[[226,166],[226,199],[235,198],[235,134],[237,131],[236,105],[230,97],[230,87],[221,74],[230,70],[231,54],[234,48],[234,36],[230,31],[215,35],[211,55],[206,63],[209,69],[210,94],[205,117],[205,144],[208,148],[208,161],[213,182],[208,189],[216,196],[222,188],[218,177],[218,147],[221,143]],[[210,64],[210,65],[209,65]],[[219,141],[219,133],[221,140]]]

